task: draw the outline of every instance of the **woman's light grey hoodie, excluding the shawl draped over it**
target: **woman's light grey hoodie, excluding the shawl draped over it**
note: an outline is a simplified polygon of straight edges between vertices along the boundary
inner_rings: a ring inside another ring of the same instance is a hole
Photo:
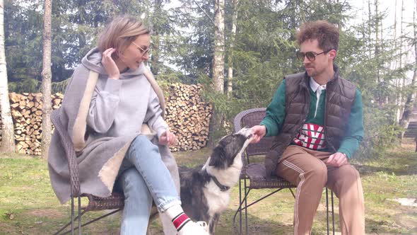
[[[101,137],[139,133],[143,122],[158,132],[158,137],[167,130],[158,97],[143,75],[143,63],[134,71],[129,69],[120,74],[119,80],[108,79],[97,49],[91,50],[82,64],[100,74],[87,117],[88,127],[95,133],[87,143]]]

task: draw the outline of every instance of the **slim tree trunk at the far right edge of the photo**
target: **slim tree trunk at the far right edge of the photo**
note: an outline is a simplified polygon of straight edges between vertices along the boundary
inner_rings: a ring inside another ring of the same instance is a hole
[[[416,40],[416,37],[417,37],[416,11],[417,11],[417,1],[416,1],[416,8],[414,8],[414,12],[413,12],[414,40]],[[413,44],[414,44],[414,58],[417,61],[417,44],[416,42],[414,42]],[[416,102],[417,67],[414,67],[413,79],[411,80],[410,87],[411,87],[410,91],[406,94],[407,98],[406,98],[406,103],[404,105],[404,113],[403,113],[403,116],[401,117],[401,120],[399,120],[399,125],[401,125],[401,127],[403,127],[404,130],[406,130],[409,127],[410,117],[411,117],[411,114],[413,113],[414,103]],[[404,138],[404,133],[405,132],[401,132],[401,139]]]

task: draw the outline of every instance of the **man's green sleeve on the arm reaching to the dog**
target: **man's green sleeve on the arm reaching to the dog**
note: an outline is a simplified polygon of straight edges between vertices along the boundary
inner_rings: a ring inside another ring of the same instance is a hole
[[[286,115],[286,80],[276,89],[274,98],[266,108],[266,116],[260,125],[266,127],[265,136],[278,135]]]

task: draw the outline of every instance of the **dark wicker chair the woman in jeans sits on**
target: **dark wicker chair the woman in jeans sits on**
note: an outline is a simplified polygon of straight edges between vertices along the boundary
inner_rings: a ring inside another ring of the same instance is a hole
[[[59,138],[61,139],[62,146],[66,152],[66,159],[69,163],[69,174],[71,176],[70,183],[71,183],[71,222],[64,225],[57,233],[61,233],[66,227],[69,227],[71,224],[71,230],[65,231],[62,234],[74,234],[74,231],[78,229],[78,234],[81,234],[81,227],[84,227],[88,224],[98,221],[104,217],[109,216],[110,214],[114,214],[119,210],[123,209],[124,206],[124,195],[122,193],[112,193],[110,197],[95,197],[94,195],[90,194],[80,194],[80,181],[78,178],[78,164],[76,161],[76,152],[74,150],[74,145],[72,144],[71,138],[69,137],[68,132],[66,132],[66,128],[62,125],[61,120],[59,119],[59,114],[61,112],[58,110],[54,110],[51,113],[51,120],[55,126],[55,131],[58,132]],[[81,197],[88,197],[88,205],[86,207],[81,207]],[[78,215],[74,218],[74,198],[78,198]],[[82,210],[82,211],[81,211]],[[90,220],[90,222],[86,222],[85,224],[81,224],[81,216],[89,211],[98,211],[98,210],[113,210],[101,217],[96,219]],[[78,219],[78,228],[74,228],[74,220]]]

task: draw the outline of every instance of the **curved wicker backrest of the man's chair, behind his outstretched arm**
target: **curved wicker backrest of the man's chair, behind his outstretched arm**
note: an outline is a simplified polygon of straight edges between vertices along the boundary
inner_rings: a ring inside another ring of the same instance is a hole
[[[264,119],[266,108],[252,108],[244,110],[236,115],[233,120],[235,132],[238,132],[242,127],[253,127],[259,125],[259,122]],[[247,156],[267,154],[271,148],[274,137],[264,137],[256,144],[249,144],[246,148]]]

